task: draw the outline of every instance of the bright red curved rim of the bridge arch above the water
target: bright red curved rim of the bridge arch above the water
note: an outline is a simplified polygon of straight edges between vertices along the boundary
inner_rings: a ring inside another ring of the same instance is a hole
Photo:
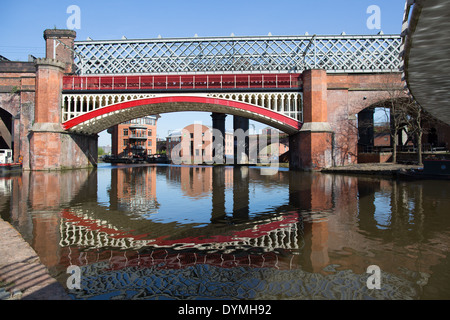
[[[107,115],[111,112],[118,111],[118,110],[125,110],[130,109],[134,107],[139,106],[146,106],[146,105],[156,105],[156,104],[167,104],[167,103],[187,103],[187,104],[209,104],[209,105],[217,105],[222,106],[227,109],[229,109],[230,113],[233,113],[233,109],[238,109],[239,111],[244,112],[250,112],[254,115],[256,115],[255,120],[257,118],[260,118],[260,120],[263,120],[263,118],[266,118],[266,123],[273,121],[273,126],[277,127],[276,123],[281,123],[282,127],[284,127],[287,131],[296,132],[300,130],[301,123],[298,122],[295,119],[289,118],[287,116],[284,116],[278,112],[258,107],[255,105],[251,105],[244,102],[238,102],[238,101],[232,101],[232,100],[226,100],[226,99],[220,99],[220,98],[211,98],[211,97],[198,97],[198,96],[166,96],[166,97],[156,97],[156,98],[147,98],[147,99],[140,99],[140,100],[132,100],[127,102],[122,102],[118,104],[114,104],[108,107],[99,108],[90,112],[87,112],[83,115],[80,115],[76,118],[70,119],[63,123],[65,130],[70,130],[71,128],[89,121],[91,119],[94,119],[99,116]],[[189,110],[186,110],[189,111]],[[267,118],[271,120],[267,120]],[[279,126],[278,126],[279,127]]]

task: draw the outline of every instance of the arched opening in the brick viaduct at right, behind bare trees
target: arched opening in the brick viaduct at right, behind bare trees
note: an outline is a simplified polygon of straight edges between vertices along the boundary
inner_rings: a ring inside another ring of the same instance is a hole
[[[363,162],[422,163],[422,153],[448,149],[448,136],[450,126],[409,98],[379,101],[358,113],[358,162],[361,154],[372,153],[379,158]],[[389,152],[390,158],[380,155]]]

